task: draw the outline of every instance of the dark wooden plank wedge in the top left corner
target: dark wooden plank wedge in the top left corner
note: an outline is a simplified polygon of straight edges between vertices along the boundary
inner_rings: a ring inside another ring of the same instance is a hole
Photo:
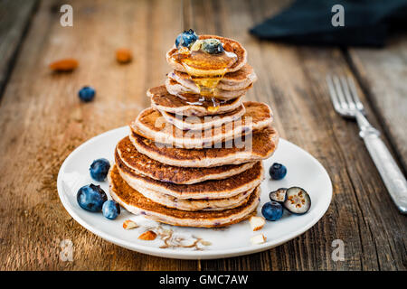
[[[37,0],[0,2],[0,99]]]

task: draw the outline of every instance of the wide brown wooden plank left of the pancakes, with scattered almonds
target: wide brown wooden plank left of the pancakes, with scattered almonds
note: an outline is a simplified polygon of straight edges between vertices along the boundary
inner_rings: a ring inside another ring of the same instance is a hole
[[[60,25],[62,4],[42,2],[0,107],[0,269],[197,268],[196,261],[146,256],[96,237],[71,219],[56,190],[58,170],[75,147],[149,105],[147,88],[168,71],[165,52],[180,30],[180,2],[70,1],[73,27]],[[135,53],[126,66],[115,61],[122,46]],[[52,74],[48,64],[65,57],[78,59],[78,70]],[[83,85],[96,88],[93,102],[80,103]],[[62,239],[73,242],[73,262],[59,258]]]

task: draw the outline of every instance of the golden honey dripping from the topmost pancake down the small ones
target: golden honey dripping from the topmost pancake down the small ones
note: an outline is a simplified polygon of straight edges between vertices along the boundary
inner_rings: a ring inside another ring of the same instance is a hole
[[[206,109],[211,113],[218,111],[222,101],[216,98],[216,87],[227,70],[237,61],[236,54],[229,51],[224,51],[221,54],[209,54],[204,51],[189,51],[186,48],[181,48],[175,52],[173,59],[184,66],[186,73],[199,89],[199,96],[181,94],[179,97],[194,105],[204,105],[210,101],[211,103]],[[195,70],[210,70],[215,73],[213,75],[197,75]]]

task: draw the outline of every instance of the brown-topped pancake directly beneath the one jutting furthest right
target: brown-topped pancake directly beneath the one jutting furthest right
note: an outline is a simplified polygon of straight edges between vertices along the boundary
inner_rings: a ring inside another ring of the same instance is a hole
[[[207,180],[221,180],[250,169],[254,162],[229,164],[212,168],[183,168],[150,159],[140,154],[128,136],[118,142],[115,152],[116,163],[124,163],[137,174],[161,182],[191,184]]]

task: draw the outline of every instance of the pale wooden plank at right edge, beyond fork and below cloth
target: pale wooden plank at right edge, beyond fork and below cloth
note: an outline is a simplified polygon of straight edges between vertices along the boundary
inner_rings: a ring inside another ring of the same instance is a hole
[[[384,49],[350,49],[349,60],[374,112],[383,122],[404,173],[407,171],[407,37],[396,35]]]

